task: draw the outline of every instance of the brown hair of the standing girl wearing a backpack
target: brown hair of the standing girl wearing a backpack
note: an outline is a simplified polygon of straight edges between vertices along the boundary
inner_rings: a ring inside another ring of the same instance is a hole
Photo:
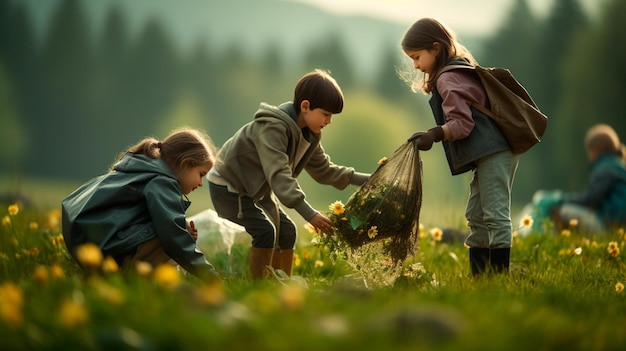
[[[413,23],[404,34],[400,45],[402,50],[407,52],[432,50],[434,43],[439,43],[439,53],[435,58],[435,66],[431,74],[424,73],[422,76],[414,69],[410,72],[399,72],[401,78],[409,83],[413,91],[419,89],[425,94],[432,93],[439,71],[454,57],[463,57],[472,65],[478,64],[469,50],[457,41],[454,32],[433,18],[422,18]]]

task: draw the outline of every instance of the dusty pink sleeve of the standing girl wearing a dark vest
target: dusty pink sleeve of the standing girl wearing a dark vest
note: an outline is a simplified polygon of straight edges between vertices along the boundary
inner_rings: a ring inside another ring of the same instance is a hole
[[[467,137],[474,129],[470,106],[475,102],[483,106],[487,103],[487,94],[480,80],[471,71],[447,71],[437,79],[437,91],[443,99],[442,108],[451,140]]]

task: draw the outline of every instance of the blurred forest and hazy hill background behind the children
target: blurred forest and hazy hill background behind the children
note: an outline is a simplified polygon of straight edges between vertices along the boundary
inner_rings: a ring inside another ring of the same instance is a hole
[[[549,116],[544,140],[521,158],[516,205],[538,189],[584,187],[591,125],[626,135],[626,1],[604,0],[593,17],[577,0],[552,3],[538,17],[515,0],[490,35],[457,33],[481,65],[509,68]],[[428,97],[396,73],[407,68],[407,27],[396,23],[279,0],[0,0],[0,26],[0,174],[17,184],[80,184],[126,146],[180,125],[220,146],[260,102],[291,100],[314,68],[330,70],[346,96],[322,142],[336,163],[371,172],[434,123]],[[470,175],[451,177],[439,146],[422,158],[425,203],[463,207]],[[301,183],[315,206],[353,191]]]

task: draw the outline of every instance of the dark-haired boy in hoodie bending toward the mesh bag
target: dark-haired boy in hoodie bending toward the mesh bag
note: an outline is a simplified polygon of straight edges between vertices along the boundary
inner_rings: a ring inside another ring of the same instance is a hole
[[[267,266],[291,275],[296,226],[278,202],[295,209],[318,230],[333,222],[305,199],[296,178],[306,170],[321,184],[343,189],[361,185],[368,174],[331,162],[320,144],[322,129],[343,110],[343,93],[325,71],[297,83],[293,101],[261,103],[253,121],[239,129],[219,152],[208,175],[213,206],[220,217],[245,227],[252,237],[249,271],[261,279]]]

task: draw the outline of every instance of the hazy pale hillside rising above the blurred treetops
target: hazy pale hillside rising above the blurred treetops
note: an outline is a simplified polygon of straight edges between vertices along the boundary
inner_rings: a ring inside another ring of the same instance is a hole
[[[38,34],[45,32],[50,14],[64,0],[21,0],[33,14]],[[391,21],[341,16],[299,2],[282,0],[79,0],[90,17],[95,33],[112,5],[120,6],[129,30],[137,34],[145,22],[156,17],[163,21],[181,49],[199,40],[220,51],[239,46],[250,55],[262,53],[265,45],[279,47],[286,62],[301,58],[331,35],[345,44],[357,72],[367,75],[377,67],[388,48],[398,48],[406,26]],[[417,19],[417,18],[416,18]],[[476,42],[474,42],[476,43]],[[465,42],[472,50],[476,45]]]

